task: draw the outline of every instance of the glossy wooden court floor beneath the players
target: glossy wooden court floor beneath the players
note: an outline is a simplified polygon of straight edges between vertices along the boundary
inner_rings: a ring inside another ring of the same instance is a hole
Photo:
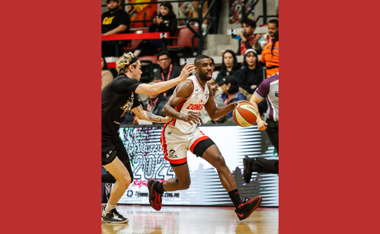
[[[156,211],[148,205],[117,205],[116,209],[129,223],[101,222],[102,234],[279,233],[278,208],[259,207],[242,221],[234,207],[162,206]]]

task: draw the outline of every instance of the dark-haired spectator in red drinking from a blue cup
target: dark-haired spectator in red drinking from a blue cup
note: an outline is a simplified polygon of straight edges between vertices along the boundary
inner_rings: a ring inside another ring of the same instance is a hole
[[[260,49],[257,45],[255,46],[255,42],[260,39],[261,35],[254,35],[253,32],[256,29],[256,22],[252,19],[245,19],[242,22],[243,26],[243,32],[237,33],[237,36],[240,36],[241,39],[239,40],[239,49],[237,49],[237,55],[244,55],[245,51],[247,49]]]

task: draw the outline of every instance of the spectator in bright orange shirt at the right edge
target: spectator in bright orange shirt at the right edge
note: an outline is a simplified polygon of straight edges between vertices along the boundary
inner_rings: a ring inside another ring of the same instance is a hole
[[[272,38],[272,43],[266,45],[261,52],[260,63],[266,66],[266,77],[279,72],[279,32]]]

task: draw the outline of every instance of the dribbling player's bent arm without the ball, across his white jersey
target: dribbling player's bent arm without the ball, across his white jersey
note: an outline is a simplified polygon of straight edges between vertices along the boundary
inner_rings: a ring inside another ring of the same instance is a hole
[[[201,117],[192,113],[184,115],[182,113],[179,113],[176,109],[174,109],[175,107],[177,107],[179,103],[181,103],[185,98],[189,97],[193,93],[193,89],[194,85],[193,82],[190,80],[180,83],[177,86],[176,91],[174,91],[173,95],[170,97],[169,101],[162,108],[162,114],[173,119],[183,120],[185,122],[188,122],[189,124],[196,124],[198,122],[198,118]]]

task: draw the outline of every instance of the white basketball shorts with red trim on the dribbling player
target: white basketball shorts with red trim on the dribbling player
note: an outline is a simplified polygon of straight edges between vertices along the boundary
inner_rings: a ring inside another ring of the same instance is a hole
[[[193,153],[194,147],[201,140],[207,139],[206,135],[196,127],[192,134],[185,135],[176,127],[165,124],[161,132],[161,146],[164,158],[173,164],[187,162],[187,151]]]

